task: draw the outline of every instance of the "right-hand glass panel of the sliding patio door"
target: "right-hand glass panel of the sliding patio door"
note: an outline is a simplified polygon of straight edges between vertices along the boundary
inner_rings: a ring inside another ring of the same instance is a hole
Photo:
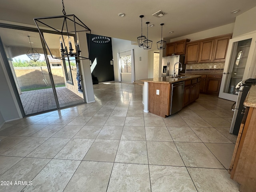
[[[50,51],[54,56],[60,57],[60,35],[51,33],[44,33],[43,35]],[[64,38],[68,39],[68,36],[64,36]],[[59,106],[66,107],[83,103],[84,96],[82,89],[79,88],[81,83],[79,82],[79,67],[76,60],[69,60],[68,58],[65,60],[54,59],[48,52],[47,60],[52,73]]]

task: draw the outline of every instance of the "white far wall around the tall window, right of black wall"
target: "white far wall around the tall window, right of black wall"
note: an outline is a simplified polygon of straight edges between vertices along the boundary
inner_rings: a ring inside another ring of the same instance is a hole
[[[135,80],[148,78],[148,50],[144,50],[138,45],[132,45],[131,41],[112,38],[115,81],[118,81],[117,53],[125,52],[131,49],[134,49]]]

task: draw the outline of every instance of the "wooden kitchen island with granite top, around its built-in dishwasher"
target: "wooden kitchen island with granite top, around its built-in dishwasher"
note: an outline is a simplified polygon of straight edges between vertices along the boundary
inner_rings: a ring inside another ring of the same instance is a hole
[[[144,112],[150,112],[165,118],[172,114],[172,101],[174,99],[179,103],[181,102],[181,108],[198,99],[200,80],[200,75],[190,75],[177,78],[149,78],[136,80],[134,83],[142,84],[141,82],[144,82]],[[177,94],[173,90],[174,84],[179,82],[184,83],[184,90],[182,93]]]

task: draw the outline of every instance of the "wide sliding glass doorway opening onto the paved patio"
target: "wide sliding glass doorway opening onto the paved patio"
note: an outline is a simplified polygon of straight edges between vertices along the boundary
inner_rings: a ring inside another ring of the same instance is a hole
[[[44,35],[50,40],[57,36]],[[23,116],[84,103],[83,93],[76,89],[77,64],[45,54],[37,30],[1,27],[0,37],[4,48],[2,55],[8,60],[5,66],[12,74],[10,79],[14,82]],[[60,54],[59,42],[52,40],[50,48]],[[40,55],[37,60],[28,57],[31,49]]]

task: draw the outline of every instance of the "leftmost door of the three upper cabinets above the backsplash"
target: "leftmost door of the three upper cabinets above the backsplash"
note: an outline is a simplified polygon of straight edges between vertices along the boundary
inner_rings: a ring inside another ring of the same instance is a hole
[[[189,42],[186,44],[185,64],[198,62],[200,42]]]

